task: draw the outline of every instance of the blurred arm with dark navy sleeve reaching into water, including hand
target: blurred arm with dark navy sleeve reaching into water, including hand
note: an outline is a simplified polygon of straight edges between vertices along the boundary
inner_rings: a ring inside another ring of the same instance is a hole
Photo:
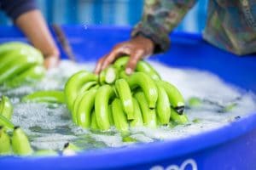
[[[14,20],[26,37],[44,54],[44,65],[58,64],[59,49],[45,23],[44,17],[33,0],[1,0],[1,8]]]

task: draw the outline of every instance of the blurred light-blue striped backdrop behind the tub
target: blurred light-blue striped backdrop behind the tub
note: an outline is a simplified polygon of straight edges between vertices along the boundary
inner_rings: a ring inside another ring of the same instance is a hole
[[[143,0],[36,0],[49,24],[134,26],[141,19]],[[207,0],[199,0],[176,28],[201,32],[207,18]],[[12,25],[1,11],[0,25]]]

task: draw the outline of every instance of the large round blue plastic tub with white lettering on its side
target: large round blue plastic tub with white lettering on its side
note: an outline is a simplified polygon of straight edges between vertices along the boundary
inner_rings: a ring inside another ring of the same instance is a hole
[[[100,58],[129,28],[63,26],[79,62]],[[173,33],[172,48],[152,59],[175,67],[217,74],[224,81],[256,93],[256,55],[237,57],[204,42],[200,35]],[[0,28],[0,42],[26,39],[13,27]],[[62,55],[65,58],[65,54]],[[221,95],[221,94],[220,94]],[[174,141],[91,150],[70,157],[2,157],[0,169],[169,169],[255,170],[256,111],[225,127]],[[158,168],[156,168],[158,167]],[[180,167],[180,168],[178,168]]]

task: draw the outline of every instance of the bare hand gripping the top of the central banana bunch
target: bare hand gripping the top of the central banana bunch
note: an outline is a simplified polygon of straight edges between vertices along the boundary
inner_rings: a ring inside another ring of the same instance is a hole
[[[122,55],[130,55],[125,72],[130,75],[136,68],[139,59],[151,55],[154,51],[154,42],[147,37],[137,36],[127,42],[121,42],[113,47],[112,51],[98,60],[95,73],[99,74],[113,61]]]

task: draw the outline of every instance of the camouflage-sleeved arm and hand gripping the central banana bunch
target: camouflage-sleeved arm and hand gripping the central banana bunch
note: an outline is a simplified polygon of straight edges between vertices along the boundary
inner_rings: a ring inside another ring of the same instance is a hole
[[[169,48],[169,33],[187,14],[196,0],[145,0],[143,18],[131,33],[131,40],[117,44],[99,59],[95,72],[99,73],[119,56],[128,54],[126,73],[131,74],[139,59]]]

